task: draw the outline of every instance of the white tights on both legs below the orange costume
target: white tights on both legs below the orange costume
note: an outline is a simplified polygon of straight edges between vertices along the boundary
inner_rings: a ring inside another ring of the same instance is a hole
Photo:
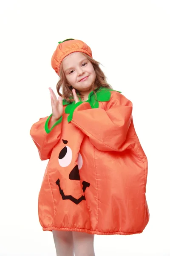
[[[52,230],[57,256],[95,256],[94,235]]]

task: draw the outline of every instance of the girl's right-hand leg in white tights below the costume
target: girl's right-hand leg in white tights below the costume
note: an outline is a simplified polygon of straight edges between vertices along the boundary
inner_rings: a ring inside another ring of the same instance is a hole
[[[75,256],[95,256],[94,235],[73,231]]]

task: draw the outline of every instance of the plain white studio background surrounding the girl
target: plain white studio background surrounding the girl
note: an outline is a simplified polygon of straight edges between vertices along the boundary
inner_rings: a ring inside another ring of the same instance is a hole
[[[114,90],[133,102],[148,158],[150,221],[143,233],[95,235],[96,256],[170,255],[170,1],[0,1],[0,256],[55,256],[37,200],[48,160],[29,131],[51,114],[59,41],[85,41]]]

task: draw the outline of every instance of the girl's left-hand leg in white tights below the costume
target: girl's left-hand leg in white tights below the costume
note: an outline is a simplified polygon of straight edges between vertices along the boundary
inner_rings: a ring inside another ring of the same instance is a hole
[[[74,256],[72,231],[52,230],[57,256]]]

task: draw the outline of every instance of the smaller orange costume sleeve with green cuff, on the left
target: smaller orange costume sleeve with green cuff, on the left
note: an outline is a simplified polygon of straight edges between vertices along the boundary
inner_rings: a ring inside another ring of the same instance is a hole
[[[58,143],[61,135],[62,128],[62,116],[57,122],[48,128],[49,120],[51,116],[40,118],[40,120],[34,123],[30,130],[31,138],[38,148],[38,152],[41,160],[47,160],[51,156],[52,149]]]

